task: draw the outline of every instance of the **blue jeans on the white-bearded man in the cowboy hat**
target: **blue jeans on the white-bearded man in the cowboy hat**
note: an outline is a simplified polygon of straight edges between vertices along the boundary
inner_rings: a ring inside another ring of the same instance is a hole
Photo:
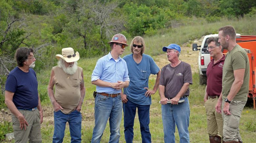
[[[71,143],[81,143],[81,123],[82,115],[77,110],[69,114],[64,114],[60,110],[54,112],[54,133],[52,137],[53,143],[62,143],[66,122],[69,124],[69,132]]]

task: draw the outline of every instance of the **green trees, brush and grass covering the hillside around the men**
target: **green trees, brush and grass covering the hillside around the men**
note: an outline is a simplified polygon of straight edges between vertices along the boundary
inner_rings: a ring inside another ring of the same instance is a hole
[[[90,76],[98,58],[110,51],[107,42],[115,33],[123,33],[128,45],[134,36],[143,36],[145,53],[156,59],[163,53],[163,46],[186,43],[187,47],[192,47],[194,39],[218,33],[218,29],[225,25],[234,26],[236,32],[242,35],[255,35],[255,14],[254,0],[0,0],[0,108],[6,110],[4,86],[8,71],[16,66],[13,59],[15,50],[19,47],[34,48],[38,92],[44,110],[42,138],[45,143],[51,142],[53,110],[47,95],[50,71],[57,63],[55,55],[60,54],[62,48],[72,47],[80,53],[78,63],[83,68],[86,86],[82,107],[82,140],[90,142],[94,127],[92,92],[95,91]],[[193,51],[182,50],[182,53],[190,52]],[[128,53],[129,48],[126,48],[124,55]],[[205,86],[199,85],[198,80],[198,74],[194,73],[189,97],[192,143],[209,140],[203,103]],[[153,85],[154,78],[150,79],[149,87]],[[163,142],[159,99],[158,92],[152,96],[152,142]],[[244,142],[256,142],[255,118],[256,111],[250,106],[243,110],[240,132]],[[10,125],[0,118],[0,141],[4,141],[3,134],[12,132]],[[70,142],[68,130],[67,127],[64,142]],[[122,121],[120,142],[125,142],[123,130]],[[141,142],[137,116],[134,131],[134,142]],[[102,142],[108,142],[109,134],[108,124]],[[179,142],[178,134],[175,133],[175,136],[176,142]]]

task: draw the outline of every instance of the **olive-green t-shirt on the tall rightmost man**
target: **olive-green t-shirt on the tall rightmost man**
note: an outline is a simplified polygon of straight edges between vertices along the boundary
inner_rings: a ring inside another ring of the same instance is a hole
[[[249,90],[250,67],[247,53],[242,47],[236,45],[234,49],[227,53],[222,73],[222,99],[227,98],[231,86],[235,80],[234,70],[245,69],[243,85],[233,100],[247,101]]]

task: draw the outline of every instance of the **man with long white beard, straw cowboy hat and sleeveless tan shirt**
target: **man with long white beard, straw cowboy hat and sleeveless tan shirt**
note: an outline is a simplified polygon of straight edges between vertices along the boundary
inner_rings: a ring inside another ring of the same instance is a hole
[[[71,143],[81,142],[81,107],[85,97],[83,69],[77,66],[79,53],[63,48],[57,54],[58,66],[52,68],[48,95],[54,108],[53,143],[63,142],[66,122],[69,124]],[[53,87],[55,92],[53,92]]]

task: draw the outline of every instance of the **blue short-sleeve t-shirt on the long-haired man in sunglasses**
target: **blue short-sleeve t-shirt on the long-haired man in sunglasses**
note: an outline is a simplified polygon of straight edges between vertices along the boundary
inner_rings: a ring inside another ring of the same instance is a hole
[[[133,54],[126,55],[123,59],[126,61],[130,78],[130,84],[127,88],[124,88],[124,94],[126,94],[128,100],[133,103],[150,105],[151,97],[145,96],[147,90],[144,88],[148,88],[149,75],[157,74],[160,69],[153,58],[147,54],[142,54],[142,59],[139,64],[134,61]]]

